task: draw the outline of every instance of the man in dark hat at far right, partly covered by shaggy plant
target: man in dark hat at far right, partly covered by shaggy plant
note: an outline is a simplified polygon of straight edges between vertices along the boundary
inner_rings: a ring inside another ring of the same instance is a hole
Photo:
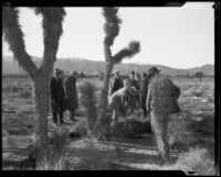
[[[147,93],[147,111],[150,111],[151,128],[157,139],[160,156],[165,162],[169,161],[168,122],[170,114],[180,111],[177,99],[180,89],[156,67],[148,71],[150,82]]]

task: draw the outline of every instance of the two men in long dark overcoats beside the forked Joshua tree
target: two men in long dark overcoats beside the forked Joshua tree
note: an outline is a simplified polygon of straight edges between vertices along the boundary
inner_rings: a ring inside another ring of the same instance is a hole
[[[54,124],[64,123],[63,112],[69,111],[69,119],[74,118],[75,110],[78,108],[76,90],[77,73],[73,70],[70,76],[64,76],[64,71],[55,68],[49,86],[49,98]],[[59,118],[57,118],[59,115]]]

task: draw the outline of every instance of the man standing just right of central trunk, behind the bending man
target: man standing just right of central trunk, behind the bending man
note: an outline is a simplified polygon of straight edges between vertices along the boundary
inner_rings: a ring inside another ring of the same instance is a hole
[[[109,80],[108,97],[110,97],[115,91],[124,87],[122,77],[119,76],[119,70],[114,71],[114,76]]]

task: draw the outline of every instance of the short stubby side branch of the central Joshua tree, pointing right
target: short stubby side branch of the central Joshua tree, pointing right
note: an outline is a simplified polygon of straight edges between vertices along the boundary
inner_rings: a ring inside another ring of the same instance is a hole
[[[130,58],[139,52],[140,52],[139,42],[131,41],[128,47],[120,49],[118,53],[114,55],[113,58],[115,64],[119,64],[124,58]]]

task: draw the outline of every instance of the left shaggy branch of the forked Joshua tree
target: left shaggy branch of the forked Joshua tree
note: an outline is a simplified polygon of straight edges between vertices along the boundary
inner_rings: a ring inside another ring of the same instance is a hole
[[[19,24],[18,8],[2,8],[2,32],[4,40],[9,43],[10,51],[14,55],[14,59],[33,79],[38,74],[38,68],[25,51],[23,32]]]

